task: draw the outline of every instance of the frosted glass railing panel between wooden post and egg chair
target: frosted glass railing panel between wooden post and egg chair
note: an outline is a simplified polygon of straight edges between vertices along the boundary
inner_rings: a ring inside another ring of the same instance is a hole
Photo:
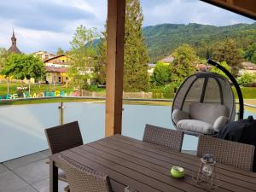
[[[175,129],[171,119],[171,102],[130,102],[124,105],[122,134],[139,140],[143,139],[146,124]],[[198,137],[185,135],[182,150],[195,151]]]

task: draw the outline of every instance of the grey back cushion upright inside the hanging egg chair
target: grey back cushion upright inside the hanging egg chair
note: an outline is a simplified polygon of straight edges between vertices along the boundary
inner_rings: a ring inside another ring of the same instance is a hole
[[[220,116],[229,117],[229,110],[221,104],[195,102],[189,106],[189,116],[190,119],[214,124]]]

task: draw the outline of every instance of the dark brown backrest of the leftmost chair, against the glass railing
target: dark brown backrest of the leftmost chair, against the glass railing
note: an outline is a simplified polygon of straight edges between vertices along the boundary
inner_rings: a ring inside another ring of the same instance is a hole
[[[78,121],[44,130],[52,154],[83,144]]]

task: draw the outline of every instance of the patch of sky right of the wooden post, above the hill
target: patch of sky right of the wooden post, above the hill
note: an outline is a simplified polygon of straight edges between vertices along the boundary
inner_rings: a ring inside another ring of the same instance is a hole
[[[201,23],[227,26],[241,22],[254,22],[254,20],[199,0],[142,0],[142,7],[144,26],[160,23]]]

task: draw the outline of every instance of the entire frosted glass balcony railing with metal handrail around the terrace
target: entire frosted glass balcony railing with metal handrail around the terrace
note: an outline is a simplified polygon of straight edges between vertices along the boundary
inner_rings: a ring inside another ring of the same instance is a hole
[[[48,148],[44,129],[74,120],[79,121],[84,143],[105,136],[104,97],[56,96],[1,102],[0,162]],[[22,102],[45,103],[19,105]],[[145,124],[174,129],[171,103],[171,99],[125,98],[122,134],[142,139]],[[253,115],[256,119],[256,113],[247,110],[256,106],[245,106],[245,118]],[[183,150],[195,150],[196,145],[197,137],[184,137]]]

